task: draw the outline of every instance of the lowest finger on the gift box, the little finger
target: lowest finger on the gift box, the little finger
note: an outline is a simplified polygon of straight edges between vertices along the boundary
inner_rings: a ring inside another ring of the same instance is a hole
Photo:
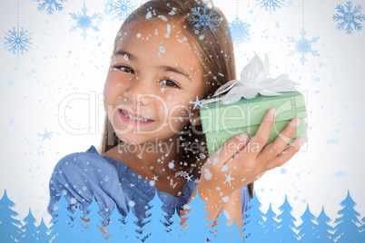
[[[291,157],[296,154],[301,146],[305,143],[305,138],[299,137],[292,141],[291,145],[282,151],[278,156],[269,160],[263,167],[262,170],[272,170],[276,167],[283,165],[286,161],[290,160]]]

